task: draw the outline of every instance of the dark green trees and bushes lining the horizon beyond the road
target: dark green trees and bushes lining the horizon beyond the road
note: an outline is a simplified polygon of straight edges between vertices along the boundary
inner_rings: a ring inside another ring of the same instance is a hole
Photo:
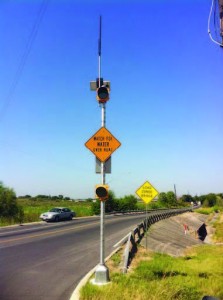
[[[21,198],[21,197],[20,197]],[[26,199],[38,199],[38,200],[70,200],[69,197],[59,196],[46,196],[38,195],[36,197],[31,197],[29,195],[23,196]],[[100,201],[94,199],[86,199],[86,201],[91,202],[92,214],[100,213]],[[201,196],[191,196],[189,194],[182,195],[177,198],[174,192],[169,191],[167,193],[160,193],[156,201],[152,201],[148,208],[157,209],[157,208],[170,208],[170,207],[183,207],[191,205],[191,202],[201,203],[204,207],[213,207],[217,206],[223,208],[223,193],[214,194],[209,193],[207,195]],[[135,195],[126,195],[121,198],[117,198],[113,191],[109,191],[109,197],[105,201],[105,212],[112,211],[128,211],[128,210],[137,210],[145,209],[145,204]],[[17,197],[13,189],[5,187],[2,182],[0,182],[0,218],[14,218],[19,222],[24,217],[23,207],[18,204]]]

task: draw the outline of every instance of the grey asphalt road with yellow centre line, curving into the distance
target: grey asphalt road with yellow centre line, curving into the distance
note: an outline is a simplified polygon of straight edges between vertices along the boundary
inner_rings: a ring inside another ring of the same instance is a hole
[[[144,218],[106,216],[105,256]],[[99,249],[99,217],[0,228],[0,299],[69,299]]]

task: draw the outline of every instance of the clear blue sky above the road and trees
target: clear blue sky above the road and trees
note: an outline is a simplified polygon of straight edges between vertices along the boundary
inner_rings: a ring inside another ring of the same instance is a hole
[[[27,51],[41,3],[0,2],[0,180],[18,196],[94,197],[101,176],[84,144],[101,126],[89,86],[101,14],[106,123],[122,143],[110,188],[121,197],[148,180],[159,192],[223,192],[223,49],[207,34],[211,1],[51,0]]]

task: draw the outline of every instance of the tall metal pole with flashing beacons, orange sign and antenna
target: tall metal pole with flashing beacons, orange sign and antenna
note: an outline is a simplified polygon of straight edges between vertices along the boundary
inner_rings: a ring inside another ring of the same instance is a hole
[[[108,199],[108,185],[106,173],[110,173],[111,154],[121,145],[121,143],[106,128],[106,102],[109,100],[110,81],[105,81],[101,77],[101,29],[102,22],[100,16],[99,39],[98,39],[98,78],[90,82],[92,91],[96,91],[96,99],[101,108],[101,127],[85,143],[85,146],[96,156],[96,167],[100,162],[101,184],[96,186],[95,194],[100,200],[100,263],[95,271],[94,284],[102,285],[109,282],[109,271],[105,265],[105,201]],[[96,170],[96,173],[97,170]]]

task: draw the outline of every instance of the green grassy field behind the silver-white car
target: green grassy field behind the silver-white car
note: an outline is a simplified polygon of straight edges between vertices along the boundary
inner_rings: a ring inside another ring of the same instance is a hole
[[[41,199],[18,199],[18,204],[24,210],[22,223],[40,221],[39,216],[53,207],[68,207],[76,213],[77,217],[92,215],[91,203],[72,202],[67,200],[41,200]],[[0,218],[0,226],[18,224],[18,221],[9,218]]]

